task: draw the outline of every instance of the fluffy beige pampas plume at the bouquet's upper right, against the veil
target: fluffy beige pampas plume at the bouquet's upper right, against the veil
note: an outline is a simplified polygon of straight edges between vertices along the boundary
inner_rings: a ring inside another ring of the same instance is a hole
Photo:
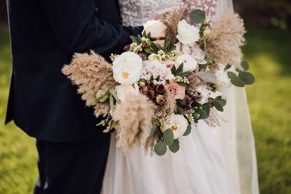
[[[243,54],[240,49],[244,45],[244,21],[232,9],[228,9],[215,21],[211,31],[205,37],[208,55],[215,53],[212,60],[216,63],[235,65],[236,68],[242,69],[239,58]],[[200,48],[204,49],[203,38],[199,42]]]

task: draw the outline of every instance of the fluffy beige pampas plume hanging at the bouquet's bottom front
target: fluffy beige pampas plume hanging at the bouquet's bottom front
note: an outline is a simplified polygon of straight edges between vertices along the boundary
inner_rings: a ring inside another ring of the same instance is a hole
[[[155,119],[155,110],[152,100],[141,93],[127,95],[124,102],[116,106],[112,117],[119,124],[116,147],[123,147],[124,154],[145,144]]]

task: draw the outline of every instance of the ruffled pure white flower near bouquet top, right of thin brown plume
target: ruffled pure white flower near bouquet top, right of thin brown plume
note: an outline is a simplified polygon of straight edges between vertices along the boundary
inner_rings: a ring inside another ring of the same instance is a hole
[[[176,38],[185,45],[192,46],[200,38],[199,30],[195,26],[191,26],[186,22],[185,19],[182,19],[177,28],[178,34]]]

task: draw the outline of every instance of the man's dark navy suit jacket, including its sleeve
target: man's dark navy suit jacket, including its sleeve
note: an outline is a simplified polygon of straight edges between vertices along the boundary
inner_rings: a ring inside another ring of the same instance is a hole
[[[92,107],[61,73],[75,52],[120,54],[141,27],[121,24],[118,0],[6,0],[13,71],[6,123],[52,142],[102,137]]]

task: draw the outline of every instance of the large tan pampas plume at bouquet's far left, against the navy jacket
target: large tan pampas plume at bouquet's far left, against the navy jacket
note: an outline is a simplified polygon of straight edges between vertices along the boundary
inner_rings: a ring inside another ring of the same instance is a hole
[[[119,85],[113,79],[111,65],[94,51],[88,53],[75,53],[69,65],[62,68],[62,73],[79,86],[78,93],[86,101],[86,106],[92,106],[96,97],[103,95],[108,89]],[[96,103],[95,116],[106,115],[109,102]]]

